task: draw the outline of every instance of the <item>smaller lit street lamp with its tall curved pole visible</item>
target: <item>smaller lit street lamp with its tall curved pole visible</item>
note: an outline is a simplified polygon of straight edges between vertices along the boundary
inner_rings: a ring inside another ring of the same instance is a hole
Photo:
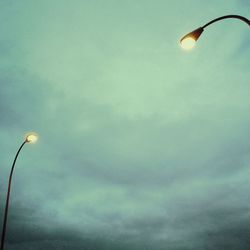
[[[4,249],[4,240],[5,240],[5,234],[6,234],[6,226],[7,226],[7,218],[8,218],[8,209],[9,209],[9,199],[10,199],[10,190],[11,190],[11,181],[12,181],[12,175],[14,172],[14,167],[15,167],[15,163],[17,160],[17,157],[20,153],[20,151],[22,150],[23,146],[26,143],[35,143],[38,139],[37,134],[35,133],[30,133],[26,136],[25,141],[22,143],[22,145],[20,146],[20,148],[18,149],[16,156],[14,158],[12,167],[11,167],[11,171],[10,171],[10,175],[9,175],[9,184],[8,184],[8,190],[7,190],[7,196],[6,196],[6,203],[5,203],[5,210],[4,210],[4,219],[3,219],[3,229],[2,229],[2,237],[1,237],[1,246],[0,246],[0,250]]]

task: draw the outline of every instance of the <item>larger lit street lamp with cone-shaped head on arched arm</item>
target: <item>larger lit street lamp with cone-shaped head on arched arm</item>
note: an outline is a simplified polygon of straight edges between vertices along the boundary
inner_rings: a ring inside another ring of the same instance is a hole
[[[180,40],[181,43],[181,47],[183,49],[192,49],[195,46],[196,41],[199,39],[201,33],[204,31],[204,29],[209,26],[210,24],[220,21],[222,19],[227,19],[227,18],[236,18],[239,19],[245,23],[247,23],[250,26],[250,20],[247,19],[246,17],[243,16],[239,16],[239,15],[226,15],[226,16],[222,16],[222,17],[218,17],[208,23],[206,23],[205,25],[203,25],[202,27],[199,27],[196,30],[193,30],[192,32],[188,33],[187,35],[183,36]]]

